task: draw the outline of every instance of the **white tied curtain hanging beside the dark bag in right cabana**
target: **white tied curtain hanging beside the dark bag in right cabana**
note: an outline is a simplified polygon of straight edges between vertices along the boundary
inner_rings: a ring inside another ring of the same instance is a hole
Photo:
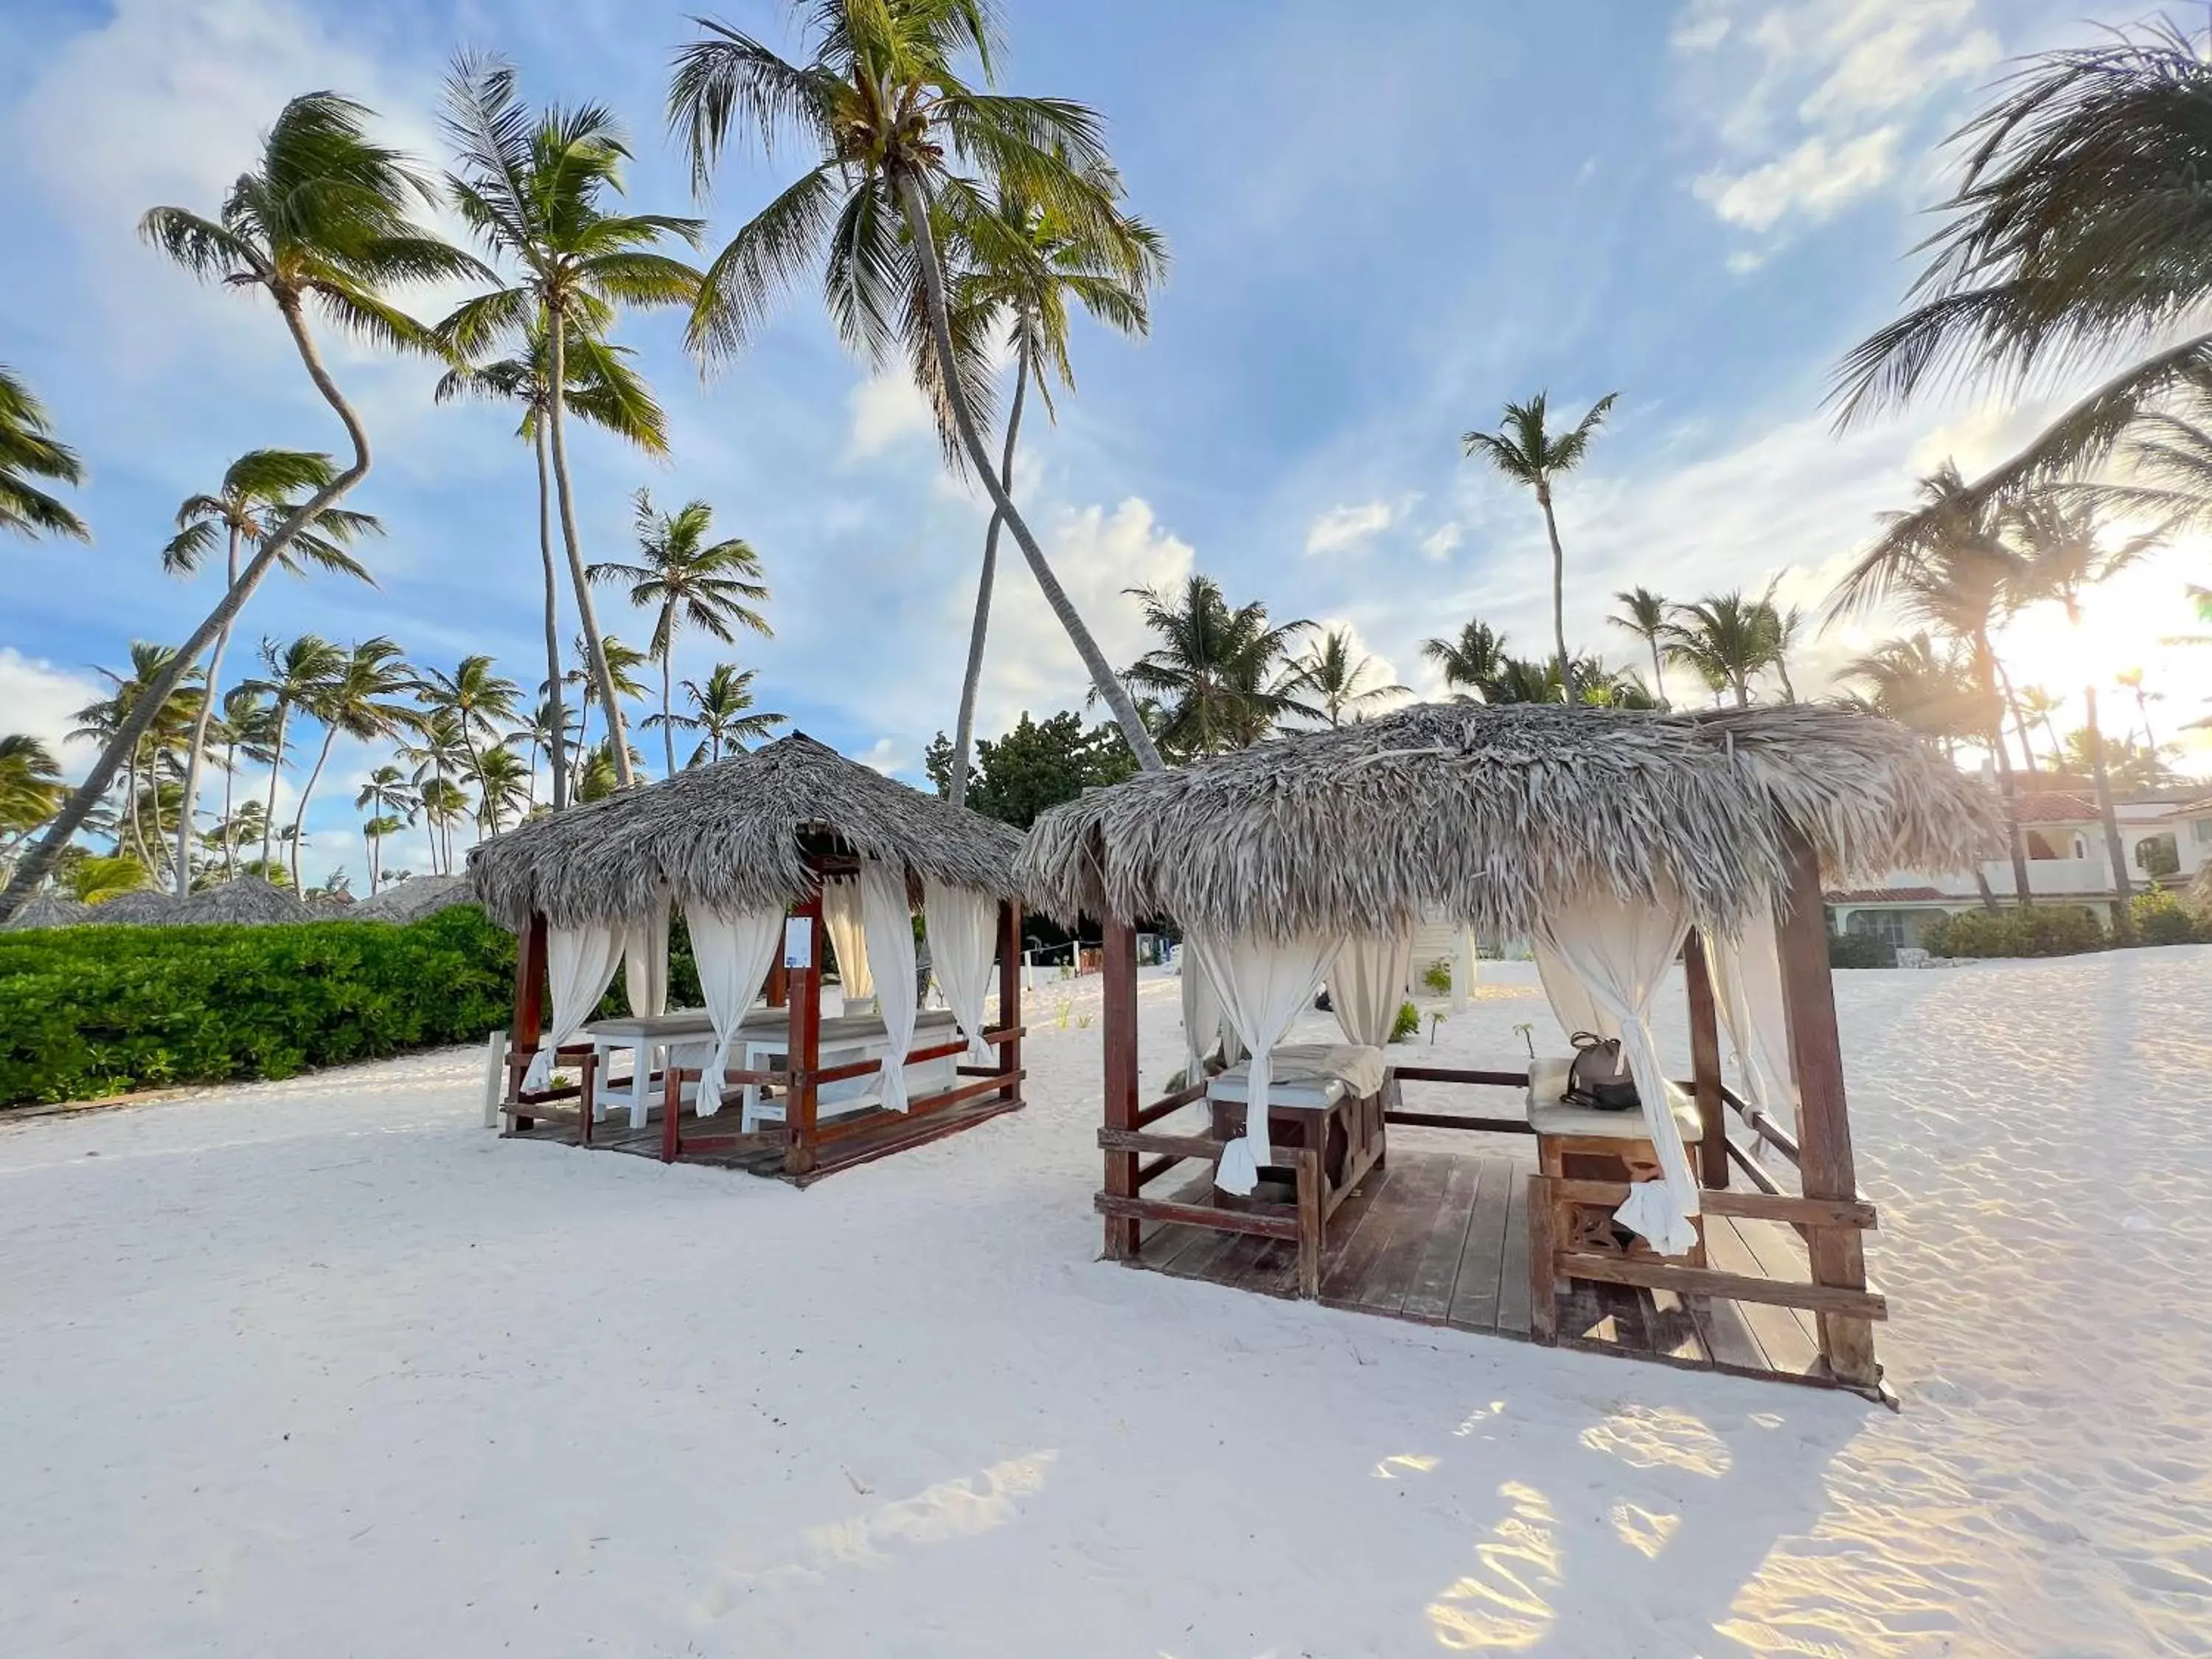
[[[1681,1144],[1666,1066],[1659,1062],[1650,1026],[1652,998],[1688,931],[1679,900],[1630,905],[1604,889],[1586,891],[1537,925],[1537,960],[1542,962],[1548,949],[1595,1011],[1619,1031],[1621,1055],[1644,1104],[1644,1130],[1659,1152],[1666,1179],[1644,1181],[1628,1194],[1628,1203],[1615,1210],[1615,1219],[1650,1239],[1661,1256],[1686,1254],[1697,1243],[1697,1228],[1690,1225],[1690,1217],[1699,1210],[1697,1177],[1690,1172],[1690,1152]]]

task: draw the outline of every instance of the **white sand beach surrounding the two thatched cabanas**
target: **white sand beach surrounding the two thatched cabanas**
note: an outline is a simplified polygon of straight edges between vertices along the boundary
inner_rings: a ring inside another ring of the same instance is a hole
[[[1095,1263],[1095,984],[812,1192],[462,1053],[18,1124],[0,1655],[2212,1652],[2212,949],[1838,987],[1902,1416]]]

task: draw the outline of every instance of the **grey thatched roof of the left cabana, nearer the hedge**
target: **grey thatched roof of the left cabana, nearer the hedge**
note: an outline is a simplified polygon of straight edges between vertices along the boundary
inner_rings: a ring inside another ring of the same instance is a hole
[[[509,830],[469,852],[484,909],[573,927],[681,905],[772,909],[812,876],[801,836],[995,898],[1018,894],[1022,834],[883,776],[805,732]]]

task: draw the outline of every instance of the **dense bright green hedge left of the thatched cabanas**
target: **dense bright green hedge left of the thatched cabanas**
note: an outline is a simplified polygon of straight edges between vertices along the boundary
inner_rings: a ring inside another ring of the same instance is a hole
[[[697,982],[688,951],[681,969]],[[0,933],[0,1106],[478,1042],[513,982],[513,933],[473,905],[407,927]]]

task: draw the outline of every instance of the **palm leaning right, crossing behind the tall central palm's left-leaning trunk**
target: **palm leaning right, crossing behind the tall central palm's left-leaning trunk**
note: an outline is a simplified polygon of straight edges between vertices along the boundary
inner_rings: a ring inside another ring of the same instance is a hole
[[[1099,170],[1097,184],[1115,201],[1121,181]],[[964,201],[967,197],[958,197]],[[1013,403],[1006,409],[1006,440],[1000,449],[998,482],[1013,493],[1013,449],[1022,431],[1022,405],[1037,387],[1046,418],[1053,378],[1075,389],[1068,361],[1068,301],[1121,334],[1150,332],[1148,288],[1166,270],[1166,241],[1148,223],[1115,215],[1102,226],[1071,223],[1033,204],[1020,188],[1000,181],[987,210],[960,221],[951,239],[951,314],[956,341],[982,341],[1006,332],[1013,352]],[[956,422],[940,431],[953,436]],[[993,509],[982,538],[982,571],[975,577],[975,622],[969,628],[967,672],[960,679],[960,719],[953,726],[951,803],[967,801],[969,752],[975,739],[975,697],[982,688],[982,650],[991,630],[991,586],[998,580],[998,533],[1004,518]]]

